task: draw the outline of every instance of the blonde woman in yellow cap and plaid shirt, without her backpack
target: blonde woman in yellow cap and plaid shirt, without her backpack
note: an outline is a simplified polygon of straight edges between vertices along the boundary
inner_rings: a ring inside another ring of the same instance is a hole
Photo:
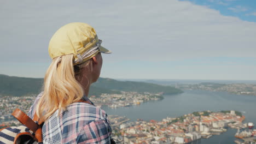
[[[45,121],[43,143],[110,143],[107,114],[88,98],[91,83],[101,73],[101,53],[110,53],[101,42],[94,28],[79,22],[61,27],[51,38],[53,62],[43,92],[28,112],[31,118],[36,112]]]

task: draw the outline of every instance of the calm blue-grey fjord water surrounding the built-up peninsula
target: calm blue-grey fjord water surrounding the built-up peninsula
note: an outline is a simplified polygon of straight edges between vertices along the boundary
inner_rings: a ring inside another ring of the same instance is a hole
[[[103,109],[108,115],[126,116],[131,121],[136,121],[138,118],[146,121],[150,119],[162,121],[167,116],[179,117],[194,111],[237,110],[245,115],[244,122],[256,124],[256,96],[193,90],[185,91],[182,94],[164,95],[164,97],[163,100],[148,101],[139,106],[118,109],[103,107]],[[236,129],[229,128],[226,133],[214,135],[210,139],[202,139],[195,143],[234,143],[236,131]]]

